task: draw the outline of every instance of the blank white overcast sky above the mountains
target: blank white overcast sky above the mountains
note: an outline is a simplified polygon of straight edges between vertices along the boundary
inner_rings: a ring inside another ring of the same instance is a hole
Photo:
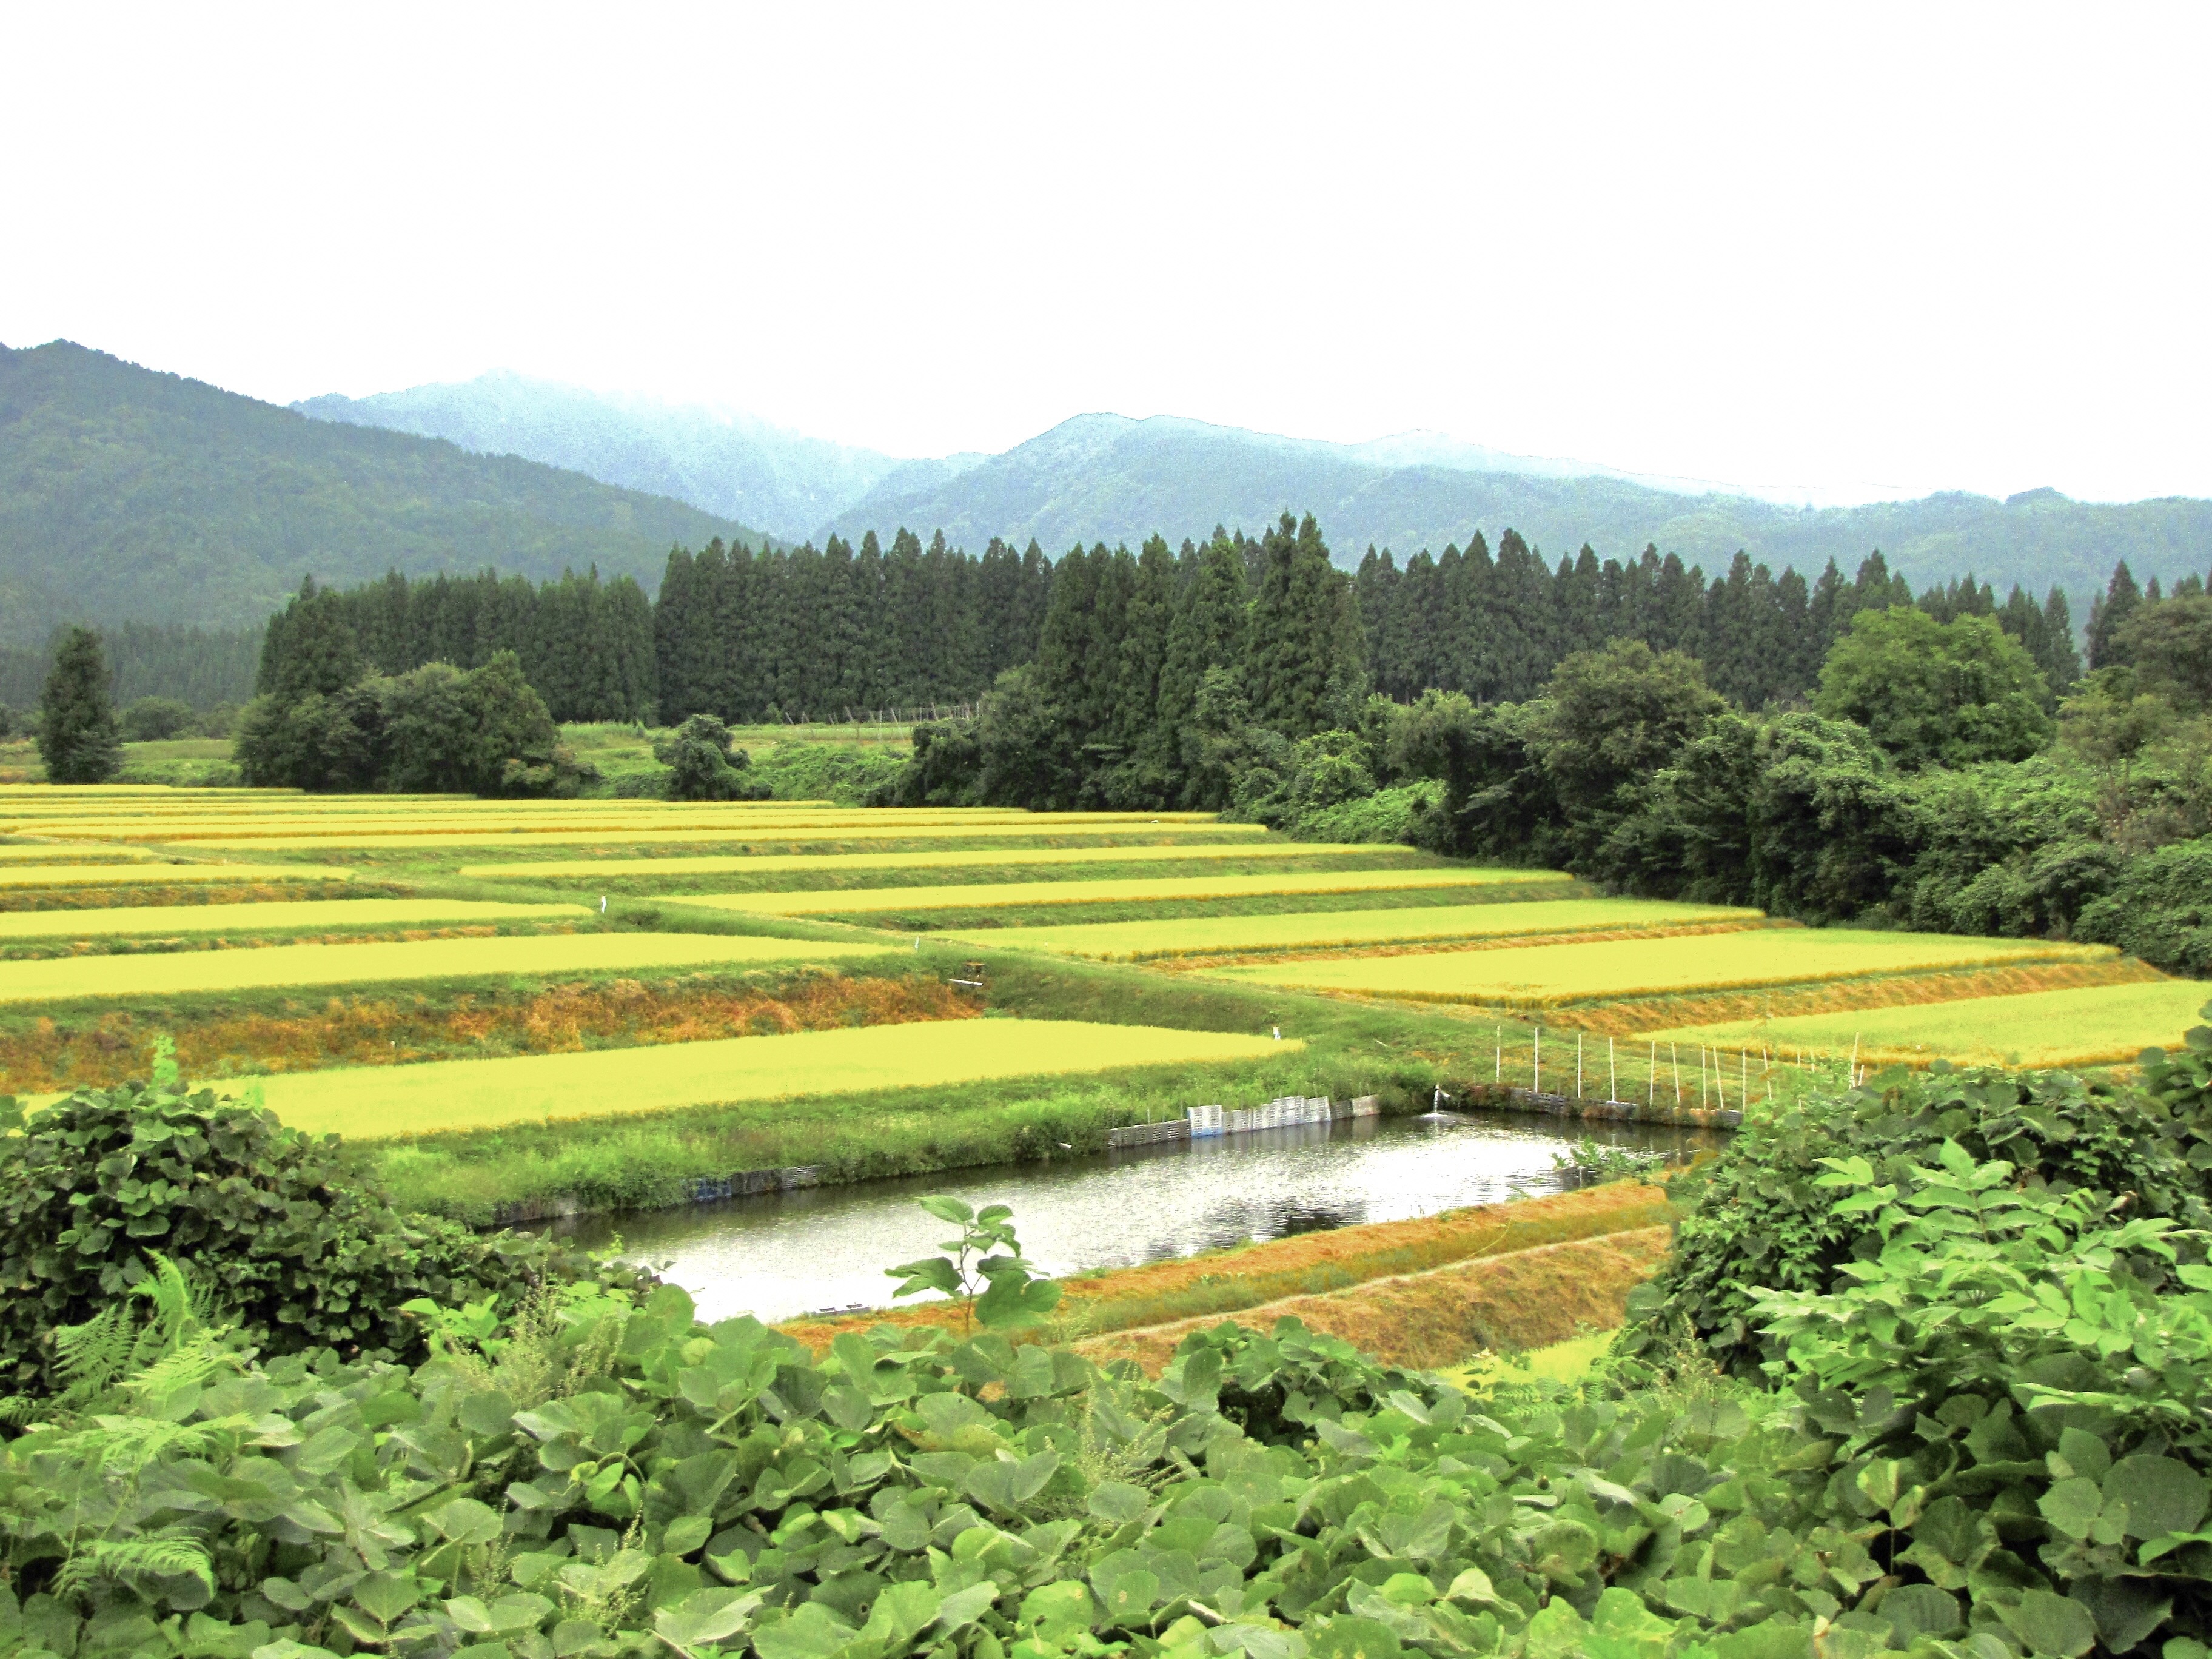
[[[2208,7],[15,4],[0,341],[2212,495]]]

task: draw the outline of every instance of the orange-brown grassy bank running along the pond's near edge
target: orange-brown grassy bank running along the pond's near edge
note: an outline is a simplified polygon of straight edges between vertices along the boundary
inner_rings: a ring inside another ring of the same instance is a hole
[[[1144,1267],[1062,1279],[1057,1323],[1077,1336],[1135,1332],[1183,1321],[1203,1323],[1292,1296],[1327,1298],[1380,1279],[1429,1274],[1453,1263],[1498,1259],[1599,1234],[1663,1228],[1672,1219],[1674,1210],[1666,1188],[1615,1181],[1548,1199],[1444,1210],[1413,1221],[1301,1232],[1234,1250],[1146,1263]],[[841,1332],[860,1332],[885,1323],[962,1329],[962,1310],[956,1303],[931,1301],[869,1314],[801,1318],[783,1329],[821,1354]],[[1504,1332],[1473,1347],[1498,1345],[1528,1347]],[[1467,1352],[1460,1347],[1451,1358],[1464,1358]]]

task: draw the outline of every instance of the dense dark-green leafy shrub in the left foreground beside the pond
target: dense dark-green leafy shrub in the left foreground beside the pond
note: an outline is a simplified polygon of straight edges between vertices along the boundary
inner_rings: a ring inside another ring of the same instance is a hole
[[[80,1088],[29,1121],[0,1099],[0,1394],[55,1383],[51,1334],[142,1283],[159,1250],[201,1272],[272,1354],[418,1354],[411,1296],[511,1292],[551,1245],[400,1214],[259,1106],[148,1084]]]

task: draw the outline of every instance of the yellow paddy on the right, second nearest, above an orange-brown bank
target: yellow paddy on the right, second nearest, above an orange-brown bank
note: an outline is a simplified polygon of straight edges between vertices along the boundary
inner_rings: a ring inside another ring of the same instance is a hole
[[[1754,929],[1694,938],[1593,940],[1398,958],[1307,958],[1210,969],[1221,978],[1411,1002],[1559,1009],[1666,991],[1818,984],[2022,962],[2110,962],[2110,945],[1869,933],[1847,927]]]

